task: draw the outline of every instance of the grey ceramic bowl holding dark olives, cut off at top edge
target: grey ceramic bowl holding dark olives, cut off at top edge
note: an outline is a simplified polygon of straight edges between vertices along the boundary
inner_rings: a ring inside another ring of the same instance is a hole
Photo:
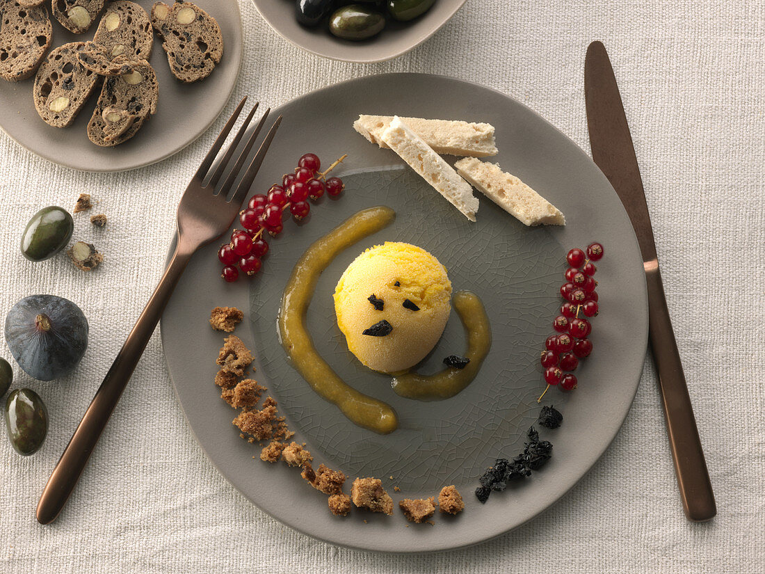
[[[263,19],[277,33],[303,50],[330,58],[371,64],[406,54],[435,34],[466,0],[437,0],[433,7],[410,22],[389,21],[375,38],[348,41],[330,34],[327,24],[306,28],[295,20],[295,0],[252,0]]]

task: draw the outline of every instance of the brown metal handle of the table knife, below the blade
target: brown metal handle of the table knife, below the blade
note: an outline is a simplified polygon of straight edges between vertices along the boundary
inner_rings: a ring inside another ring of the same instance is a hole
[[[711,520],[717,514],[715,494],[709,481],[701,439],[698,438],[688,385],[682,373],[680,354],[669,320],[662,276],[656,259],[645,263],[648,286],[649,341],[675,460],[675,475],[680,487],[685,516],[693,522]]]

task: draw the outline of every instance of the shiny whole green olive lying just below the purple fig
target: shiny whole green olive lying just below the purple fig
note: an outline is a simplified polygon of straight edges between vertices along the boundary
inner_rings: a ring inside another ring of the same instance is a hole
[[[5,402],[5,425],[8,440],[20,455],[34,455],[47,435],[45,403],[31,389],[17,389]]]

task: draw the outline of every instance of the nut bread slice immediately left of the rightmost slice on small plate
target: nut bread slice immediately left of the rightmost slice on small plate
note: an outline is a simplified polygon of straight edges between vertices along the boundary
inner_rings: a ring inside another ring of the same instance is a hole
[[[154,32],[141,6],[117,0],[106,5],[93,41],[105,47],[111,57],[148,60],[154,46]]]

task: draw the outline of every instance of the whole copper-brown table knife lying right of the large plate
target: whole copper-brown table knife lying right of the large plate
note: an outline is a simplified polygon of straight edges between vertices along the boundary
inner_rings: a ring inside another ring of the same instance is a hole
[[[694,522],[711,520],[717,514],[715,494],[709,481],[691,397],[669,320],[643,180],[619,86],[601,42],[593,42],[587,49],[584,99],[592,158],[624,204],[643,254],[648,287],[649,343],[659,373],[669,445],[675,460],[675,474],[685,515]]]

